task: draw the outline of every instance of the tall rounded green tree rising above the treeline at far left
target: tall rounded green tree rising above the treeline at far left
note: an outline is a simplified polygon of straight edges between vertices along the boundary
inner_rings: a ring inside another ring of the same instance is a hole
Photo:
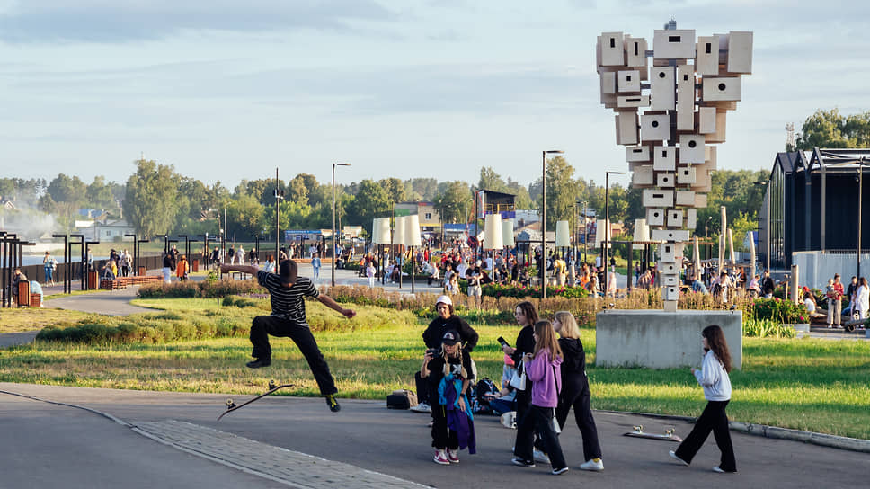
[[[171,232],[178,211],[178,177],[173,166],[144,159],[135,164],[136,173],[127,181],[124,215],[144,236]]]

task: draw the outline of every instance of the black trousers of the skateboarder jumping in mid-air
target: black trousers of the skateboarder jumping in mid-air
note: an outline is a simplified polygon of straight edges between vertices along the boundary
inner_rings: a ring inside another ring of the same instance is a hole
[[[289,337],[299,347],[299,351],[308,362],[311,373],[315,375],[320,393],[329,396],[338,392],[335,388],[333,375],[329,373],[329,365],[324,360],[323,353],[317,348],[314,334],[307,326],[296,323],[278,316],[257,316],[253,318],[251,325],[251,343],[253,351],[251,356],[261,360],[271,360],[271,346],[269,335]]]

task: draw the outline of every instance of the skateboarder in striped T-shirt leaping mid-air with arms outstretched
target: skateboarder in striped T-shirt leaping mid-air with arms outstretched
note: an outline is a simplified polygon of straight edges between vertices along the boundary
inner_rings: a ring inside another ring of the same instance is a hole
[[[245,265],[220,265],[221,273],[241,271],[257,277],[262,287],[269,290],[271,296],[272,313],[270,316],[257,316],[253,318],[251,325],[251,342],[253,343],[252,356],[255,360],[246,365],[251,369],[268,367],[271,364],[271,346],[269,335],[289,336],[302,351],[302,355],[308,361],[308,367],[315,376],[320,393],[326,397],[326,404],[330,411],[338,413],[342,406],[335,400],[335,382],[329,373],[329,365],[324,360],[323,353],[317,348],[317,342],[311,329],[308,327],[305,315],[304,296],[316,298],[326,307],[329,307],[342,316],[350,319],[357,313],[353,309],[345,309],[337,302],[321,294],[311,280],[298,276],[297,264],[293,260],[284,260],[280,263],[280,273],[262,271],[256,266]]]

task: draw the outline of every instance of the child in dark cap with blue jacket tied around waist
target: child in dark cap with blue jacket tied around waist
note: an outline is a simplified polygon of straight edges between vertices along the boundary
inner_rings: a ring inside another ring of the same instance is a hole
[[[436,464],[459,462],[459,449],[475,454],[475,424],[468,402],[468,387],[475,379],[471,356],[459,344],[459,333],[444,333],[439,355],[428,349],[420,367],[420,377],[428,380],[432,405],[432,447]]]

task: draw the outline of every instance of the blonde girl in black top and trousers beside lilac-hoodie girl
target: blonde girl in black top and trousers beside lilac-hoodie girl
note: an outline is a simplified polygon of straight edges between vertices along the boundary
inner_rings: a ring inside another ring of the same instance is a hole
[[[559,428],[564,428],[568,419],[568,411],[574,408],[574,420],[580,428],[583,437],[583,458],[580,465],[583,470],[604,470],[601,461],[601,446],[598,440],[598,430],[590,408],[589,378],[586,377],[586,352],[580,341],[580,328],[577,320],[568,311],[555,313],[553,328],[559,333],[559,347],[562,348],[562,392],[559,396],[559,406],[555,408],[555,417]]]

